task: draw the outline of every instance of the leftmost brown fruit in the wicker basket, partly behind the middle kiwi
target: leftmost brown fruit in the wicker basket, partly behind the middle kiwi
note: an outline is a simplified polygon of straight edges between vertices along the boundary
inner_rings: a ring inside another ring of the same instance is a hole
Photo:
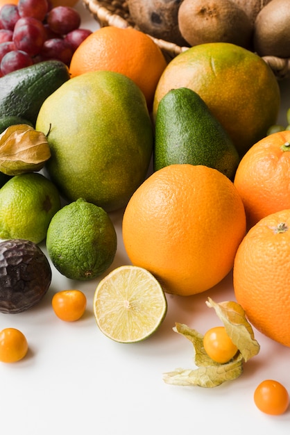
[[[188,45],[178,28],[182,0],[127,0],[130,17],[139,30],[154,38]]]

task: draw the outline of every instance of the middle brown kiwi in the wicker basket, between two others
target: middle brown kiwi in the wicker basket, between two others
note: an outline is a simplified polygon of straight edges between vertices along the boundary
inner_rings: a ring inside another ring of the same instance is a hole
[[[231,42],[248,48],[253,35],[248,15],[230,0],[183,0],[178,10],[178,25],[191,46]]]

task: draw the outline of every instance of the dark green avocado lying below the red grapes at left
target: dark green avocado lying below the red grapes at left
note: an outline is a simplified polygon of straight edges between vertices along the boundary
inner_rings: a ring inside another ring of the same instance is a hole
[[[69,80],[60,60],[45,60],[0,78],[0,117],[17,116],[35,126],[44,100]]]

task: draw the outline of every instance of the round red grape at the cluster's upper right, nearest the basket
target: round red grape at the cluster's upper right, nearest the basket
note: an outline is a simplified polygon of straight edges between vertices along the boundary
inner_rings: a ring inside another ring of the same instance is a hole
[[[69,6],[57,6],[46,16],[51,30],[59,35],[66,35],[80,26],[80,14]]]

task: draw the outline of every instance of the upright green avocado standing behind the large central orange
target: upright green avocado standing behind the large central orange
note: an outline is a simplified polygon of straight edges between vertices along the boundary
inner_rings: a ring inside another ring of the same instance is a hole
[[[157,109],[153,169],[184,163],[213,167],[233,180],[239,154],[205,101],[194,90],[178,88]]]

